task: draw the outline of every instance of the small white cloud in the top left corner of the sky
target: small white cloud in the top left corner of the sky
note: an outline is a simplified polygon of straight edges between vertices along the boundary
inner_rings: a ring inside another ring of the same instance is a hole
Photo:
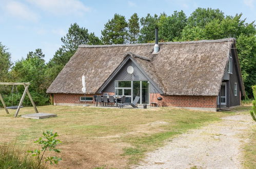
[[[32,20],[34,22],[38,20],[38,16],[36,13],[31,11],[26,5],[16,1],[7,2],[4,9],[8,13],[8,15],[11,15],[18,19]]]

